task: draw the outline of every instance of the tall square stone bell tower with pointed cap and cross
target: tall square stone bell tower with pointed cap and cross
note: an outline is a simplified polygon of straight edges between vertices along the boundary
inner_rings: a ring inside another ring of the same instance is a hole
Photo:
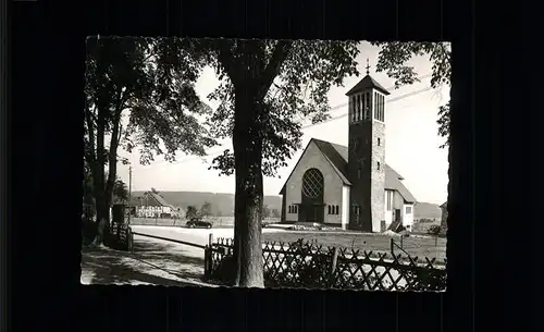
[[[390,93],[369,74],[349,99],[349,228],[381,232],[385,220],[385,96]]]

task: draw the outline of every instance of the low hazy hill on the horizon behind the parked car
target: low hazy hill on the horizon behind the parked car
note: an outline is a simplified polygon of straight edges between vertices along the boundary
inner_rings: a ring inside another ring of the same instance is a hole
[[[144,196],[145,192],[133,192],[133,197]],[[222,217],[234,216],[234,194],[225,193],[201,193],[201,192],[160,192],[159,194],[164,200],[173,206],[183,207],[187,209],[188,206],[195,206],[197,209],[205,202],[212,206],[212,211],[220,211]],[[264,196],[264,205],[270,209],[281,210],[282,197],[281,196]]]

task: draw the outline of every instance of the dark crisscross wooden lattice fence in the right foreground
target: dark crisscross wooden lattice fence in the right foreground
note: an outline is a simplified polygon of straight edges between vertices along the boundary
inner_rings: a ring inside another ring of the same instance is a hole
[[[233,241],[206,247],[205,274],[220,279],[221,265],[233,255]],[[264,282],[272,287],[367,291],[445,291],[446,270],[435,259],[323,247],[299,239],[268,242],[262,248]]]

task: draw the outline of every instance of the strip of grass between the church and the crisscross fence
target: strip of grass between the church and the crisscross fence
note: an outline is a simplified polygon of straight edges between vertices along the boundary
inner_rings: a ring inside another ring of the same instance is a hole
[[[354,248],[358,250],[374,250],[391,253],[391,236],[357,233],[320,233],[320,232],[276,232],[264,233],[263,241],[292,243],[298,238],[314,241],[318,245]],[[400,239],[395,239],[400,245]],[[403,239],[403,248],[412,257],[446,258],[446,239],[434,237],[411,236]],[[395,249],[395,254],[404,254]]]

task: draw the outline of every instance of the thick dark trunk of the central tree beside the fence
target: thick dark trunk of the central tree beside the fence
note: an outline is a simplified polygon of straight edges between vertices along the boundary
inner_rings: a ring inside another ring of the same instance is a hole
[[[234,284],[264,287],[261,245],[262,170],[258,108],[248,88],[235,96],[233,147],[236,193],[234,198]],[[255,95],[254,95],[255,96]]]

